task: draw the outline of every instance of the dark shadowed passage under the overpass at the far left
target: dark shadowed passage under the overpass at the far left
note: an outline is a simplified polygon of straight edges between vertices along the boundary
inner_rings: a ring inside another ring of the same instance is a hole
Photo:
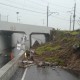
[[[12,46],[12,35],[14,33],[25,34],[22,31],[6,31],[0,30],[0,67],[11,60],[12,50],[16,46]]]

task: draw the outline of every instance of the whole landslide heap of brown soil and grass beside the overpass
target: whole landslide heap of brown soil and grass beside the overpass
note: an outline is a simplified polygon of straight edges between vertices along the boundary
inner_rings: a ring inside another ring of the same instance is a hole
[[[35,59],[46,62],[58,62],[72,70],[80,70],[80,34],[79,31],[56,31],[51,41],[36,48]]]

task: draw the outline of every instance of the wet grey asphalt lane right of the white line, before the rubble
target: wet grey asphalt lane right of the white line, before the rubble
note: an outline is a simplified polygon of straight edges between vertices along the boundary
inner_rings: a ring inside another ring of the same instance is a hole
[[[31,66],[28,68],[24,80],[80,80],[75,75],[60,69],[51,67],[38,68]]]

